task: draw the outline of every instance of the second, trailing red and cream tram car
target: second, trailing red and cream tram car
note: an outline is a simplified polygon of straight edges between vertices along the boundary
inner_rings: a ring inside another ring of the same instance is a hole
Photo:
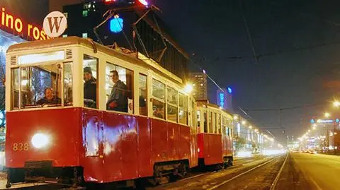
[[[196,109],[200,167],[232,165],[232,114],[207,102],[197,102]]]

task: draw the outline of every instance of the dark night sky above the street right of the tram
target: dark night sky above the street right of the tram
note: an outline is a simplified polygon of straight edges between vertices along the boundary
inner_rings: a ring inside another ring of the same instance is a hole
[[[340,88],[340,2],[154,0],[154,4],[162,9],[159,15],[171,35],[195,54],[193,61],[222,87],[232,86],[235,111],[248,110],[256,126],[269,129],[282,143],[287,135],[302,135],[311,118],[326,110],[335,112],[329,101]],[[194,64],[190,67],[198,71]],[[216,101],[215,90],[210,81],[210,102]],[[308,106],[316,103],[325,105]],[[279,114],[278,109],[285,107],[302,108]],[[276,110],[251,111],[262,108]]]

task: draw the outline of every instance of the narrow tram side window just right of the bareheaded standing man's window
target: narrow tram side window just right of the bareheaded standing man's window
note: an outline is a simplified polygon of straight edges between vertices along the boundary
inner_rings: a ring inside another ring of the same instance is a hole
[[[139,84],[140,115],[147,116],[147,76],[140,73]]]

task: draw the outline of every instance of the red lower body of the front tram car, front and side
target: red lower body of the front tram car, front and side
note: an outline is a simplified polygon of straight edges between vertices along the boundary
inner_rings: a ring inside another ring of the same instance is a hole
[[[151,177],[157,162],[191,162],[195,143],[188,126],[115,112],[65,108],[8,112],[6,117],[8,125],[22,126],[7,131],[7,158],[15,158],[6,160],[7,167],[50,160],[52,167],[83,167],[86,182]],[[12,151],[13,143],[30,143],[39,132],[50,134],[48,148]]]

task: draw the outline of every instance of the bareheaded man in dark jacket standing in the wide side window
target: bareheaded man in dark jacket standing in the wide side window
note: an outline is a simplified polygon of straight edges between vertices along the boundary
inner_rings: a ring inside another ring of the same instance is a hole
[[[111,90],[106,109],[118,112],[128,112],[128,88],[119,80],[118,72],[110,71],[110,78],[115,83]]]

